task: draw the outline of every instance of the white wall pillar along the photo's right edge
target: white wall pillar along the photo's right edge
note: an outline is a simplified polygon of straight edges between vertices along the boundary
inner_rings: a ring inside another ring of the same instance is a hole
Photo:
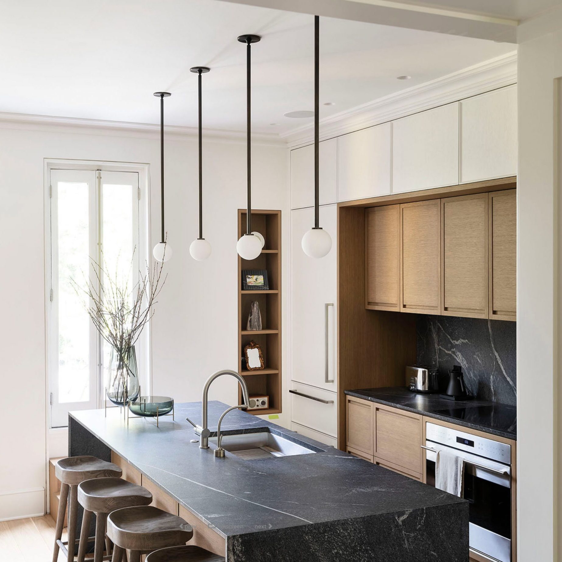
[[[549,15],[548,25],[554,21]],[[518,59],[518,555],[524,562],[562,559],[562,544],[557,545],[562,541],[558,519],[562,502],[557,498],[562,433],[556,143],[562,115],[561,28],[524,37]]]

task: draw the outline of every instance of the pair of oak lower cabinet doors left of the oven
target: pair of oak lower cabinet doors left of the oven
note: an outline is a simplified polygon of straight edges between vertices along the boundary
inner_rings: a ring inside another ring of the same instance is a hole
[[[422,481],[422,416],[346,397],[347,452]]]

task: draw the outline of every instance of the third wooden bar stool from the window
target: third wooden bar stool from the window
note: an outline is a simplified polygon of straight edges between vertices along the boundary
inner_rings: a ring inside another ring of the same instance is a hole
[[[129,562],[139,562],[141,554],[185,545],[193,537],[193,529],[181,517],[146,505],[112,511],[107,518],[107,536],[114,543],[111,562],[121,562],[124,550]]]

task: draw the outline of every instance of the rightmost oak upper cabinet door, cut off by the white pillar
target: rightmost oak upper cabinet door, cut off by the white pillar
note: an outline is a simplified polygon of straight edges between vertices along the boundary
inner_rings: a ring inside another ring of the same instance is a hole
[[[515,189],[488,193],[490,318],[516,319],[517,202]]]

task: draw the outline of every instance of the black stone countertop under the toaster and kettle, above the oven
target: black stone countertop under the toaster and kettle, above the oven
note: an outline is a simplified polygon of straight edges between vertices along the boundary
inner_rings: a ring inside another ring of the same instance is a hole
[[[517,439],[516,406],[475,399],[452,401],[440,398],[438,394],[411,392],[406,387],[362,388],[345,393],[499,437]]]

